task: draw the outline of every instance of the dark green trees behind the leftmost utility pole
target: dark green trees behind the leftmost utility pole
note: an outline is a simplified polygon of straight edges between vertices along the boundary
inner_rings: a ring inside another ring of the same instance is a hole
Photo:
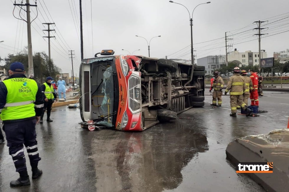
[[[28,52],[27,50],[21,51],[17,54],[9,54],[5,59],[4,68],[9,70],[10,64],[19,61],[24,65],[26,76],[28,77]],[[60,68],[53,64],[53,60],[49,62],[49,57],[45,52],[37,52],[33,55],[33,69],[34,77],[38,82],[45,82],[47,76],[55,79],[56,74],[60,73]]]

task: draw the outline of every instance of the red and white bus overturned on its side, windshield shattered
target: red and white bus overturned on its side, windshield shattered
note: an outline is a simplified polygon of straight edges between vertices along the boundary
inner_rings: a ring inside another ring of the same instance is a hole
[[[143,131],[174,120],[204,106],[204,75],[204,66],[103,50],[81,61],[79,124]]]

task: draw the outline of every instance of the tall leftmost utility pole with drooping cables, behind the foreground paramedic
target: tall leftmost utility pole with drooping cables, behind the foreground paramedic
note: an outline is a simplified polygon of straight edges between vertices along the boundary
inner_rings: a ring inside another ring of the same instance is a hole
[[[26,0],[26,4],[16,4],[16,1],[15,3],[13,4],[14,6],[21,6],[21,9],[20,9],[20,12],[24,9],[22,9],[22,6],[26,6],[26,17],[27,17],[27,21],[24,20],[22,17],[21,17],[21,14],[19,12],[19,16],[21,19],[17,18],[14,16],[14,13],[13,13],[13,16],[16,18],[16,19],[19,19],[19,20],[23,20],[27,23],[27,40],[28,40],[28,44],[27,44],[27,48],[28,48],[28,73],[29,73],[29,76],[33,75],[34,76],[34,69],[33,69],[33,56],[32,56],[32,42],[31,42],[31,22],[34,21],[36,19],[33,19],[32,21],[30,20],[30,6],[37,6],[36,5],[36,2],[35,2],[35,5],[30,5],[29,4],[29,0]],[[25,10],[24,10],[25,11]]]

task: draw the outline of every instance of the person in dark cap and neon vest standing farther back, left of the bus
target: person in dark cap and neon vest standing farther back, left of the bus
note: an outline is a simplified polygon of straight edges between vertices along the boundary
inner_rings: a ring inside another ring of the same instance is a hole
[[[40,123],[43,123],[43,116],[46,110],[47,110],[46,121],[52,122],[52,119],[50,119],[50,112],[51,112],[52,103],[54,102],[54,98],[56,98],[53,85],[51,84],[52,80],[53,80],[52,77],[47,77],[46,82],[41,85],[41,90],[42,90],[42,94],[44,97],[44,108],[40,116]]]

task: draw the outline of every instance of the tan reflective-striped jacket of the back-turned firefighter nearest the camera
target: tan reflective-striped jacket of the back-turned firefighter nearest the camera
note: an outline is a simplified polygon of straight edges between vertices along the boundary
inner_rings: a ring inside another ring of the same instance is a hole
[[[242,95],[245,90],[246,84],[244,82],[244,78],[240,74],[235,73],[230,77],[225,91],[230,91],[230,95]]]

